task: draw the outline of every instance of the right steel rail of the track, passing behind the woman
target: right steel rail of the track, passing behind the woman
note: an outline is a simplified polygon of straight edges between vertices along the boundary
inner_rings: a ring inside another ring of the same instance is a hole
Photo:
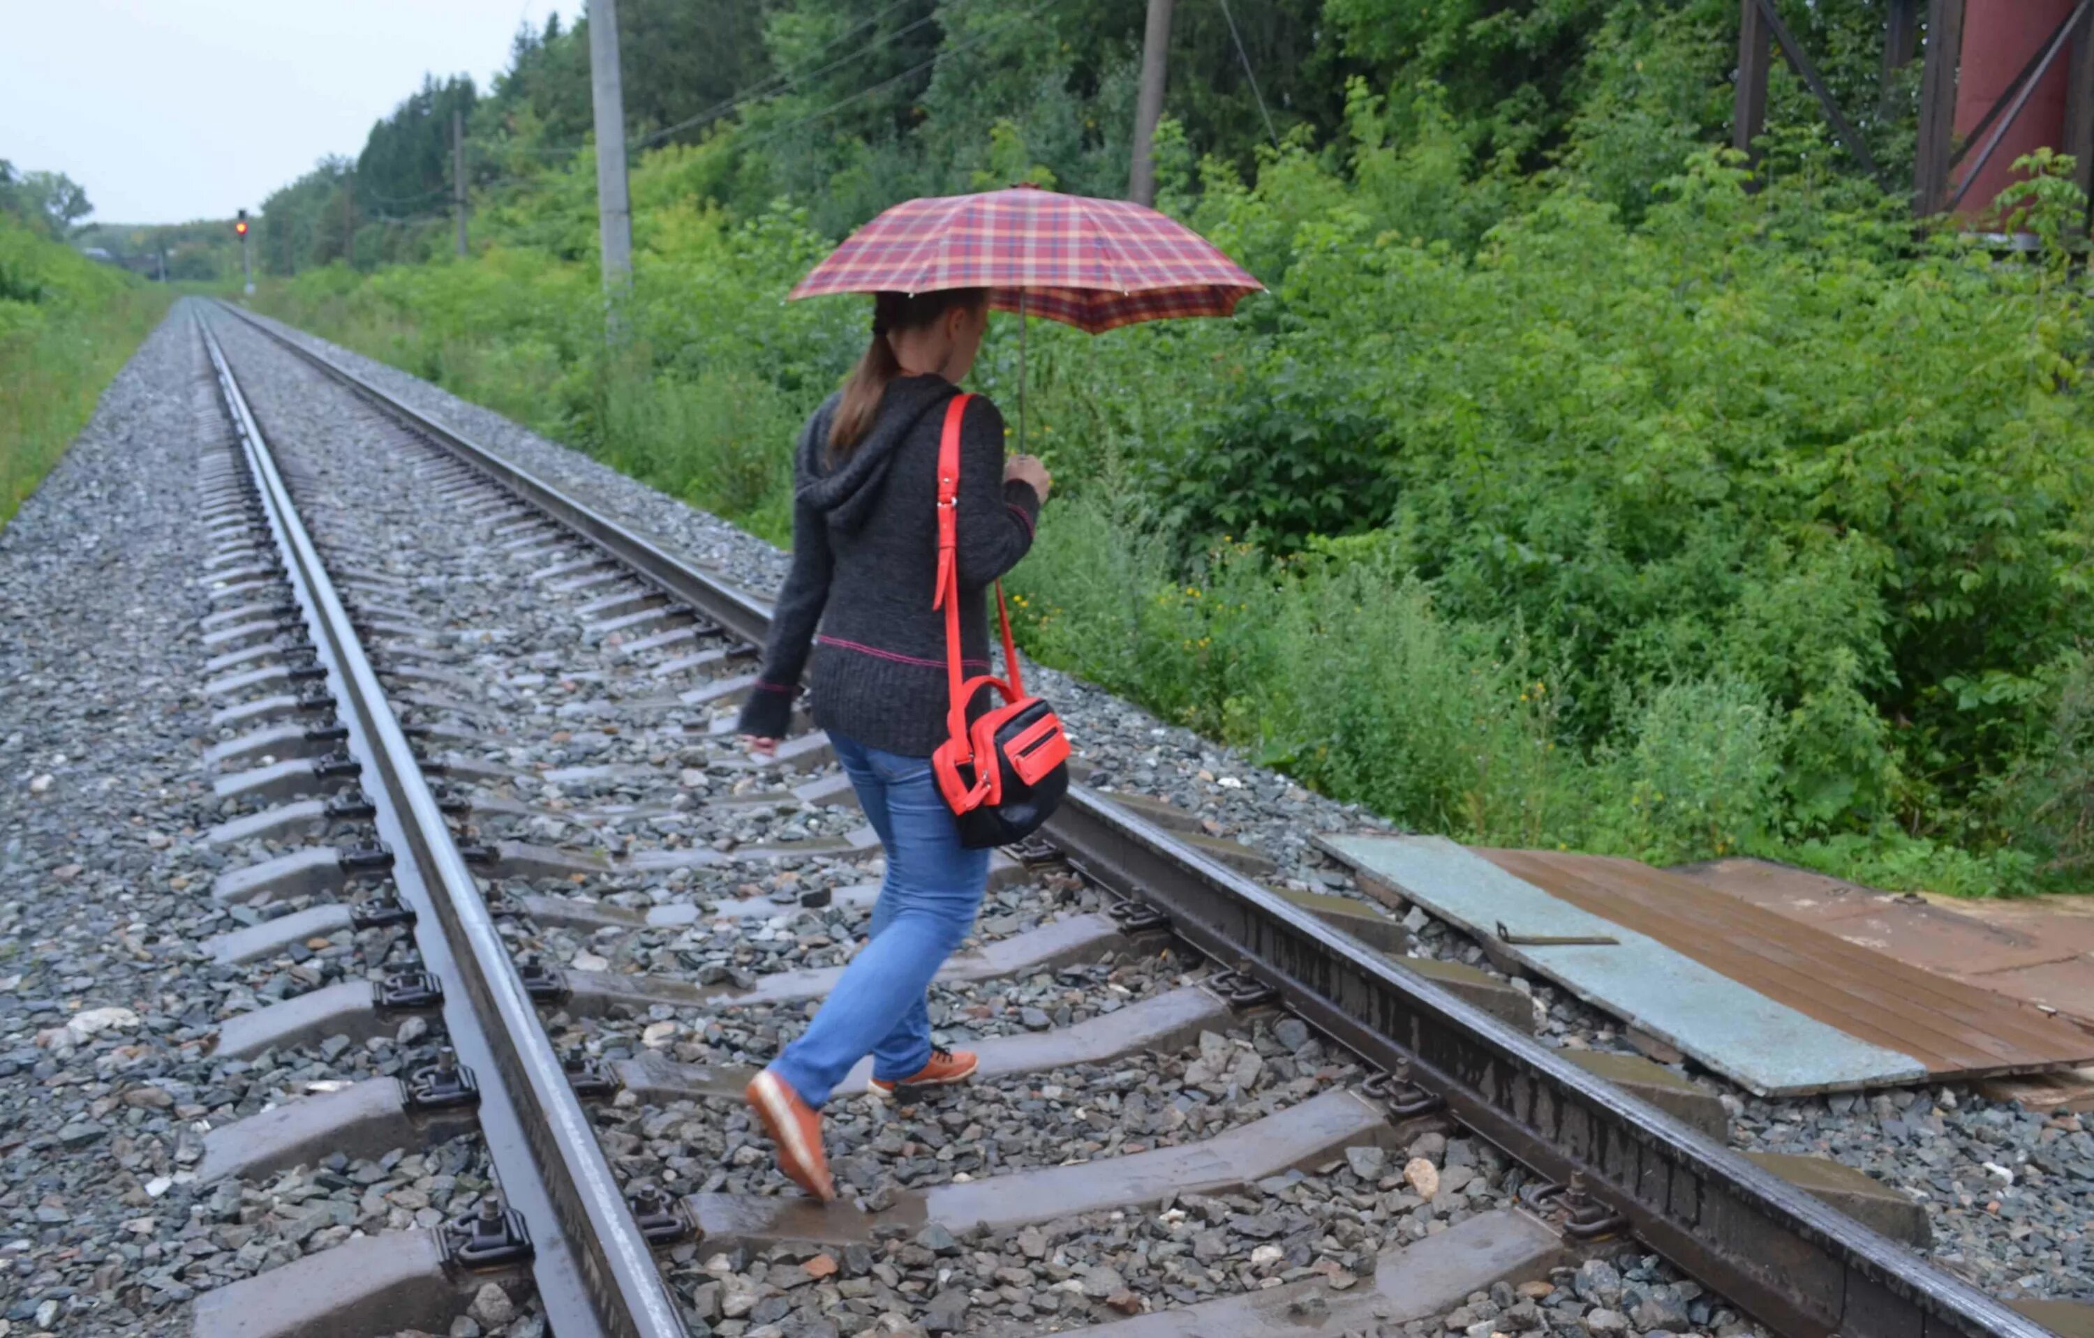
[[[237,308],[228,308],[237,310]],[[768,605],[668,557],[358,373],[239,312],[396,421],[503,480],[672,599],[750,641]],[[580,517],[580,521],[572,519]],[[626,544],[634,547],[626,547]],[[1621,1212],[1654,1250],[1792,1338],[2042,1338],[2040,1323],[1933,1267],[1736,1152],[1638,1101],[1248,877],[1072,785],[1045,835],[1106,888],[1156,905],[1175,934],[1409,1078],[1522,1164]]]

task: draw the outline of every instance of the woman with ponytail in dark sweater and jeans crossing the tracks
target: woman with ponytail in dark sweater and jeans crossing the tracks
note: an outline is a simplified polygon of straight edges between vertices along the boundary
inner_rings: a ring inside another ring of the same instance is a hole
[[[961,846],[932,777],[949,685],[944,614],[930,599],[940,578],[940,436],[986,325],[984,289],[873,299],[871,345],[800,436],[792,574],[741,712],[750,748],[773,752],[812,657],[815,722],[888,856],[871,942],[806,1032],[748,1087],[779,1168],[819,1200],[836,1198],[821,1108],[861,1057],[873,1055],[882,1095],[961,1083],[976,1066],[967,1051],[932,1045],[923,993],[974,928],[988,884],[988,850]],[[986,398],[963,406],[959,444],[961,662],[974,674],[988,670],[982,590],[1032,547],[1051,480],[1032,456],[1003,459],[1003,417]]]

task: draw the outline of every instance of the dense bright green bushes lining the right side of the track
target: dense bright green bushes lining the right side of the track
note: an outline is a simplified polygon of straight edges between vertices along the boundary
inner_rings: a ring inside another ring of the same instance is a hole
[[[1294,134],[1252,180],[1194,174],[1166,126],[1162,199],[1271,293],[1097,339],[993,327],[976,387],[1057,473],[1013,582],[1026,645],[1468,840],[2079,875],[2084,750],[2056,735],[2094,572],[2081,287],[1916,237],[1807,142],[1774,142],[1757,193],[1700,153],[1627,209],[1577,155],[1474,161],[1430,90],[1355,84],[1340,142]],[[1022,151],[1005,126],[990,161]],[[264,304],[783,538],[798,423],[865,304],[783,302],[831,241],[710,203],[731,153],[641,159],[616,354],[586,161],[490,207],[467,262]],[[2014,222],[2056,235],[2075,193],[2029,165]]]

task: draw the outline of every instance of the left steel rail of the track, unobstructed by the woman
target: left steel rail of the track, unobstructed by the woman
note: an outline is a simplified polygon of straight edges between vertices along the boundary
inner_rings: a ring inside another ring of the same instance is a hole
[[[209,322],[197,320],[241,452],[304,611],[348,748],[362,766],[379,835],[400,856],[394,884],[415,911],[415,944],[444,984],[459,1062],[480,1078],[480,1129],[507,1206],[530,1231],[530,1271],[561,1338],[681,1338],[687,1330],[618,1191],[588,1116],[450,838],[421,764],[385,701],[350,614],[299,519]],[[500,1080],[490,1083],[486,1074]]]

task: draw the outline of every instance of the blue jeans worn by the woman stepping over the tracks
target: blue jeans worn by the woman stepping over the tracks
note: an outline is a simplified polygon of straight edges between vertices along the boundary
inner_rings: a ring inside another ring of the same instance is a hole
[[[873,1055],[873,1076],[884,1083],[911,1078],[930,1064],[923,990],[974,928],[988,888],[988,850],[959,844],[930,758],[905,758],[838,733],[829,745],[879,833],[888,875],[873,905],[871,942],[844,967],[806,1032],[771,1064],[815,1108],[865,1055]]]

